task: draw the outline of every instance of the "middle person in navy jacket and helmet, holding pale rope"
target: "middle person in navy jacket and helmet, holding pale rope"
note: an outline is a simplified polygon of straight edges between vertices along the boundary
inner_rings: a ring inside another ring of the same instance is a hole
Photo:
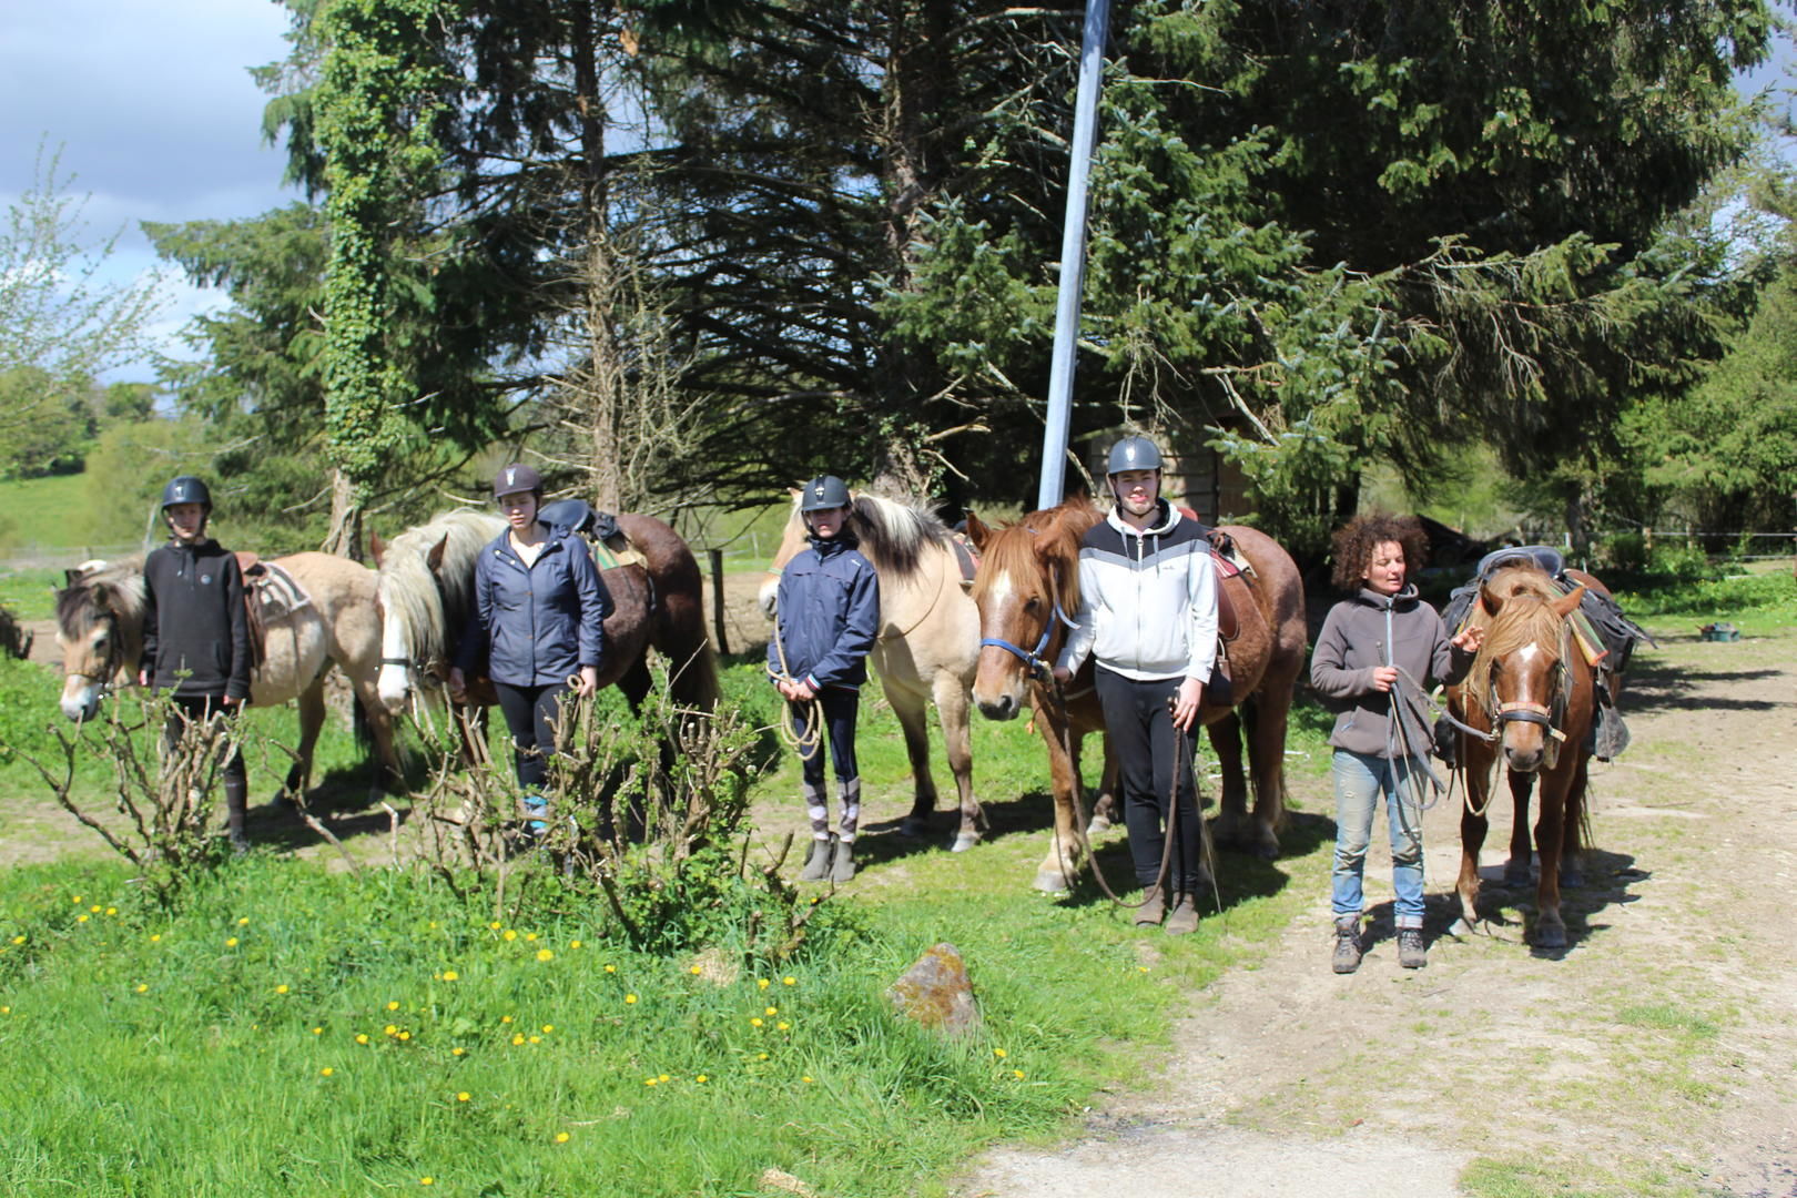
[[[810,851],[803,882],[846,882],[855,876],[855,826],[861,821],[861,772],[855,765],[855,713],[868,681],[868,652],[881,627],[881,584],[855,550],[848,521],[848,487],[823,474],[805,483],[800,514],[810,548],[780,573],[775,636],[767,672],[785,697],[800,747]],[[818,722],[821,720],[821,727]],[[843,817],[830,835],[823,792],[823,742],[830,744]]]

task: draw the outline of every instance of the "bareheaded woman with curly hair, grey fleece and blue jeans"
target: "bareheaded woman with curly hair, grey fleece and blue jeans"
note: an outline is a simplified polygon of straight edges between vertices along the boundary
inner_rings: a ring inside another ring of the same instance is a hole
[[[1337,973],[1353,973],[1360,965],[1360,880],[1380,796],[1391,830],[1398,965],[1416,970],[1429,963],[1421,805],[1411,797],[1427,774],[1421,688],[1465,677],[1484,630],[1466,629],[1448,639],[1436,609],[1416,598],[1409,569],[1420,568],[1425,553],[1427,539],[1414,517],[1357,515],[1335,533],[1333,582],[1353,596],[1332,607],[1323,621],[1310,656],[1310,684],[1335,711],[1330,774]]]

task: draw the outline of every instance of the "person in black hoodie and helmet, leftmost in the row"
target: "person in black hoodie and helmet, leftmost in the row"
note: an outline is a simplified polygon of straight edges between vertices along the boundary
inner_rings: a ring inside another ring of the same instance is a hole
[[[212,492],[192,474],[162,489],[169,544],[144,560],[144,657],[138,683],[169,691],[164,753],[192,726],[235,717],[250,699],[250,618],[235,555],[207,535]],[[243,753],[225,762],[232,850],[250,848],[243,821],[250,781]]]

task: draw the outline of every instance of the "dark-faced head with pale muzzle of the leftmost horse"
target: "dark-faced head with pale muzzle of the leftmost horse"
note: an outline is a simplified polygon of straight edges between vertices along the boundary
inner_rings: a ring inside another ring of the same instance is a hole
[[[135,681],[144,654],[144,575],[86,564],[56,593],[56,643],[63,650],[63,715],[92,720],[113,686]]]

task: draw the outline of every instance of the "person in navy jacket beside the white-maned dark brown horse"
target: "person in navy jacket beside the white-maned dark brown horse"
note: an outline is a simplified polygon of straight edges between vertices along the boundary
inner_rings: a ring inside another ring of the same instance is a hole
[[[462,638],[449,691],[462,695],[467,675],[487,661],[500,711],[512,731],[518,785],[525,808],[548,808],[543,781],[555,751],[555,724],[570,686],[579,695],[598,688],[606,661],[604,620],[611,593],[586,542],[568,528],[537,519],[543,476],[509,465],[492,483],[509,528],[474,562],[474,616]],[[534,819],[532,828],[543,830]]]

